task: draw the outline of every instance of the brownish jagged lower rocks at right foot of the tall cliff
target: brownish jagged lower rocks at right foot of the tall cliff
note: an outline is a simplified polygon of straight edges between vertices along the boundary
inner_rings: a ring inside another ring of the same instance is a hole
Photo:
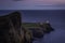
[[[22,29],[24,30],[24,43],[32,43],[32,33],[26,30],[24,27],[22,27]]]

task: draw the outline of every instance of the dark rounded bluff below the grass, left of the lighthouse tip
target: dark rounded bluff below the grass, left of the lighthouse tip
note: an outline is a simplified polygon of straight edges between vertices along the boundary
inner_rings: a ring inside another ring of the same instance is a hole
[[[42,38],[43,37],[43,31],[40,28],[29,28],[32,31],[32,37],[34,38]]]

